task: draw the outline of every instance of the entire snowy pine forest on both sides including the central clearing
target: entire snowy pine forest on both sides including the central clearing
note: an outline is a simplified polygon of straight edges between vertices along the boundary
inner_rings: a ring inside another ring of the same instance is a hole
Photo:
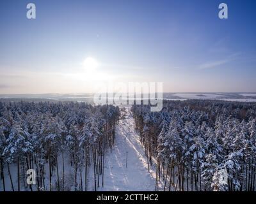
[[[0,159],[0,191],[255,191],[256,106],[4,101]]]

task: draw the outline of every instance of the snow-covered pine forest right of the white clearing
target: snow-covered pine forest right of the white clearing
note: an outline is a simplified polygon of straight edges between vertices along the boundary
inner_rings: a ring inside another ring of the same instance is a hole
[[[132,106],[156,191],[255,191],[256,106],[211,100],[164,101],[161,112]],[[226,182],[225,182],[226,177]]]

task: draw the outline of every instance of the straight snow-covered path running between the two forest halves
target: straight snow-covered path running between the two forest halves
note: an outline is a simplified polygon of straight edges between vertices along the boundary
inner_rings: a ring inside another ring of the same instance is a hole
[[[147,157],[140,145],[140,136],[134,129],[130,110],[116,128],[115,147],[106,155],[104,187],[98,191],[154,191],[156,171],[147,168]],[[128,165],[126,168],[126,154]]]

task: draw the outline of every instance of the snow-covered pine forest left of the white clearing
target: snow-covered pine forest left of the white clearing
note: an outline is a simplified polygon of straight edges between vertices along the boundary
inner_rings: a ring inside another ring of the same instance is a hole
[[[86,191],[89,168],[94,190],[104,186],[119,114],[111,105],[0,102],[0,191]]]

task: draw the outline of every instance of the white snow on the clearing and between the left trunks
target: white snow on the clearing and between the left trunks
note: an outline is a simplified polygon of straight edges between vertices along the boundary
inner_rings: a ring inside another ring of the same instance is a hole
[[[115,146],[112,152],[106,152],[104,161],[104,187],[102,187],[102,175],[100,175],[100,187],[97,191],[155,191],[156,185],[156,159],[152,158],[152,166],[148,172],[147,156],[143,147],[141,147],[140,136],[135,131],[135,123],[132,118],[130,106],[125,107],[125,119],[121,119],[116,127]],[[127,168],[126,168],[127,156]],[[58,156],[58,166],[60,179],[62,178],[62,160],[61,155]],[[74,191],[74,179],[72,175],[72,166],[70,166],[70,158],[68,153],[64,155],[65,160],[65,186]],[[13,179],[13,186],[17,191],[17,165],[10,164],[10,171]],[[56,189],[57,175],[56,171],[52,172],[52,189]],[[8,170],[4,168],[6,191],[12,191]],[[84,191],[84,169],[83,175],[83,191]],[[29,191],[24,188],[26,178],[20,179],[20,190]],[[60,180],[60,183],[62,181]],[[93,165],[88,169],[87,191],[94,191]],[[0,181],[0,191],[3,191],[3,185]],[[61,183],[62,184],[62,183]],[[77,172],[77,187],[79,186],[79,172]],[[33,186],[33,191],[36,191]],[[163,189],[164,182],[159,182],[159,191]],[[66,188],[66,187],[65,187]],[[49,191],[49,164],[45,164],[45,190]]]

